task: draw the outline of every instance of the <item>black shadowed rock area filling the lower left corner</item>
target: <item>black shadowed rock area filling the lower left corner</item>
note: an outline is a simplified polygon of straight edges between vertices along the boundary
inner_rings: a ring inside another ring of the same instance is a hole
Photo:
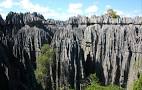
[[[9,49],[0,43],[0,90],[39,90],[27,52],[21,62]]]

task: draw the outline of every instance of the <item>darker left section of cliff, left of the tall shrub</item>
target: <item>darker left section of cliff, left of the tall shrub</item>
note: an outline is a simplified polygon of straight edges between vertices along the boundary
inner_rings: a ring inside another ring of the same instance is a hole
[[[46,23],[37,13],[0,17],[0,90],[36,90],[36,58],[60,26]]]

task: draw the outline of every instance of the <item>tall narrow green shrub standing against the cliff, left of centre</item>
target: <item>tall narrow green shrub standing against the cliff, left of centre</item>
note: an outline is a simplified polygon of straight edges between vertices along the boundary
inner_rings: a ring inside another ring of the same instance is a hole
[[[53,49],[48,44],[43,45],[41,48],[41,55],[37,59],[37,69],[35,71],[37,82],[45,89],[45,80],[49,75],[49,65],[53,58]]]

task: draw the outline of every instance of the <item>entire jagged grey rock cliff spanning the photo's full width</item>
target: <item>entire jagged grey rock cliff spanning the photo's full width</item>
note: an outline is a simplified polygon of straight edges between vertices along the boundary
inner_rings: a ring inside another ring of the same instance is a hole
[[[81,90],[91,73],[104,85],[131,90],[142,72],[142,17],[55,21],[10,12],[6,20],[0,17],[0,90],[37,89],[35,61],[45,43],[55,48],[51,90]]]

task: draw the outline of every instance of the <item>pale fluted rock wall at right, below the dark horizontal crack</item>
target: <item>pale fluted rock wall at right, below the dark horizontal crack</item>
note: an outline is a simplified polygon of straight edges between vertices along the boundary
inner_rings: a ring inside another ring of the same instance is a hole
[[[86,29],[87,33],[85,35],[87,38],[84,40],[87,43],[90,42],[90,47],[88,47],[88,50],[85,49],[84,53],[89,51],[95,63],[101,65],[103,71],[97,71],[96,73],[103,74],[104,84],[116,83],[125,86],[128,83],[129,87],[129,80],[134,81],[137,77],[140,71],[138,69],[135,70],[133,66],[137,61],[136,58],[139,57],[140,61],[142,58],[140,27],[140,25],[135,26],[130,24],[124,26],[103,25],[100,28],[100,25],[96,24]],[[88,35],[89,33],[90,35]],[[141,63],[139,62],[139,64]],[[95,69],[99,68],[96,67]],[[129,71],[133,72],[134,75]]]

